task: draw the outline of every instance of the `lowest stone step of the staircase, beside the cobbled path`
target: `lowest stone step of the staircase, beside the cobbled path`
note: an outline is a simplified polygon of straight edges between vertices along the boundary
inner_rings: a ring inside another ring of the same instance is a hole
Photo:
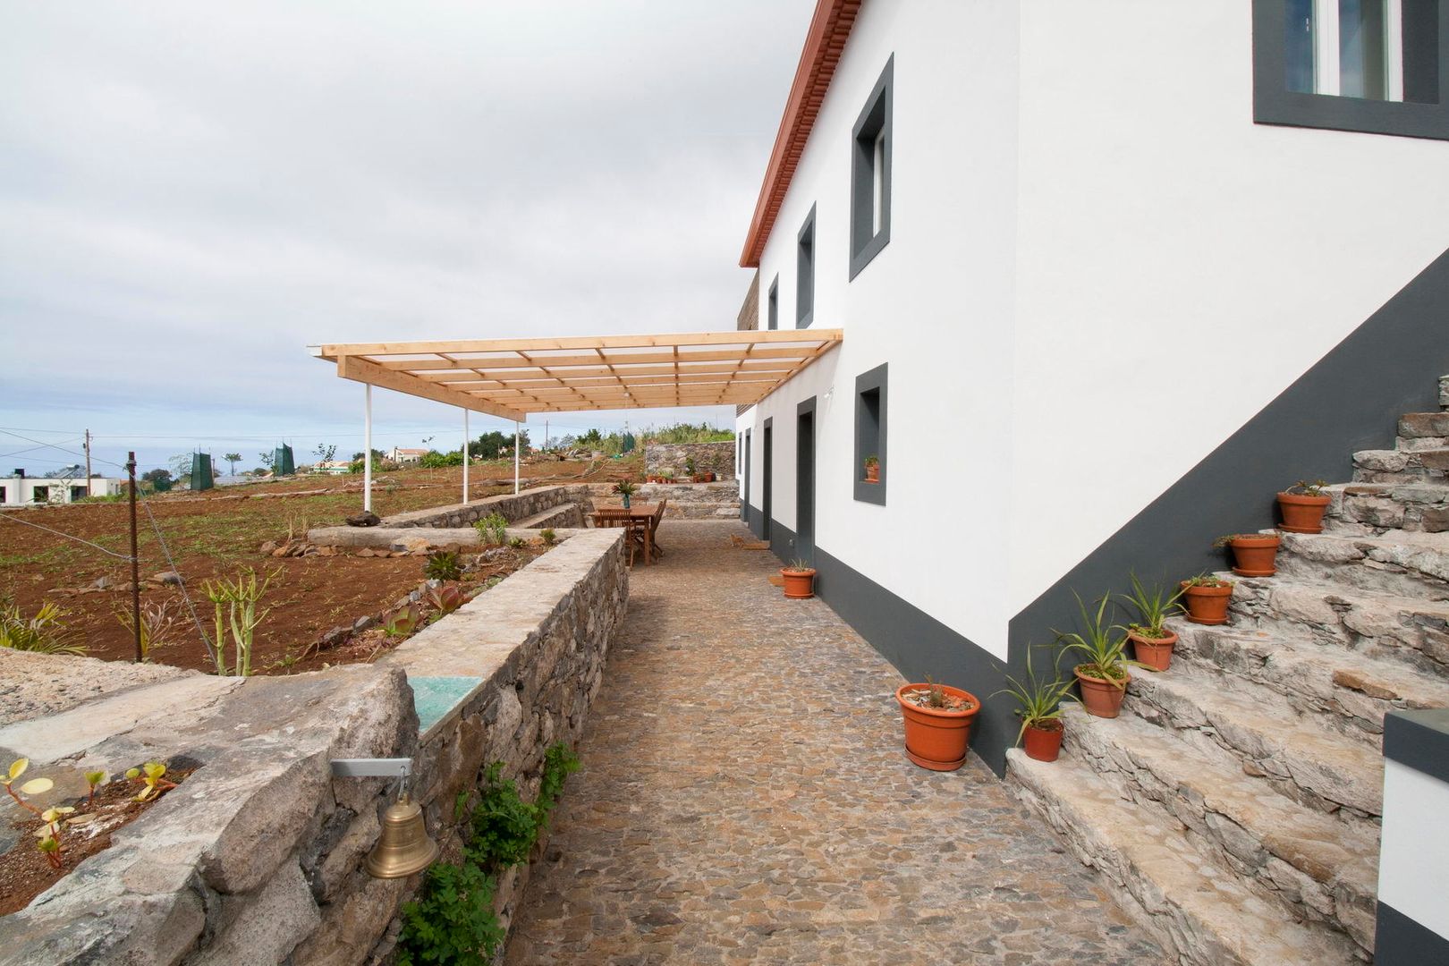
[[[1277,902],[1201,854],[1181,827],[1126,798],[1066,753],[1036,762],[1007,752],[1017,797],[1097,868],[1117,901],[1179,963],[1282,966],[1356,963],[1355,944],[1288,918]]]

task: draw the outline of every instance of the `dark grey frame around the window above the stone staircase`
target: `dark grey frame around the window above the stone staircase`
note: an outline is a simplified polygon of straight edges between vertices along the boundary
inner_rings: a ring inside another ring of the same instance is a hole
[[[1427,46],[1410,46],[1406,36],[1404,97],[1417,100],[1301,94],[1287,84],[1284,0],[1253,0],[1253,120],[1449,140],[1449,0],[1404,0],[1404,16],[1426,17],[1437,32]]]

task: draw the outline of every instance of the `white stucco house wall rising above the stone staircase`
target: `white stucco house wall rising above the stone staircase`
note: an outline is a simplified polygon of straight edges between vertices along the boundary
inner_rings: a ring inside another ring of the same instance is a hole
[[[1449,143],[1253,123],[1246,0],[1020,7],[1013,610],[1449,248]]]

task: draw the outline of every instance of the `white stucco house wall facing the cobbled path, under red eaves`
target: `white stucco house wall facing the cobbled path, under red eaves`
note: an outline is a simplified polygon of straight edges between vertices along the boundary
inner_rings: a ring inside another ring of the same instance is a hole
[[[816,395],[817,546],[1000,653],[1016,20],[1010,3],[864,6],[759,274],[761,313],[778,272],[780,324],[794,327],[796,235],[816,204],[813,326],[840,327],[845,342],[740,420],[753,430],[759,507],[758,427],[774,417],[774,516],[796,529],[796,404]],[[891,240],[849,281],[852,126],[891,54]],[[853,498],[855,377],[881,362],[890,364],[885,507]]]

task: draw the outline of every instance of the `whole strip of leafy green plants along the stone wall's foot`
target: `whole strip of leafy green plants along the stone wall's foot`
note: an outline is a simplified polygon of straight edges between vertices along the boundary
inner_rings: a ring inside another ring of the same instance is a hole
[[[533,804],[519,797],[516,782],[500,778],[503,762],[488,766],[471,814],[468,795],[458,797],[454,815],[467,817],[461,828],[467,836],[462,862],[433,865],[419,898],[403,905],[398,966],[487,966],[493,962],[504,936],[493,912],[496,873],[527,862],[548,828],[564,779],[577,769],[578,759],[559,743],[543,755],[543,776]]]

